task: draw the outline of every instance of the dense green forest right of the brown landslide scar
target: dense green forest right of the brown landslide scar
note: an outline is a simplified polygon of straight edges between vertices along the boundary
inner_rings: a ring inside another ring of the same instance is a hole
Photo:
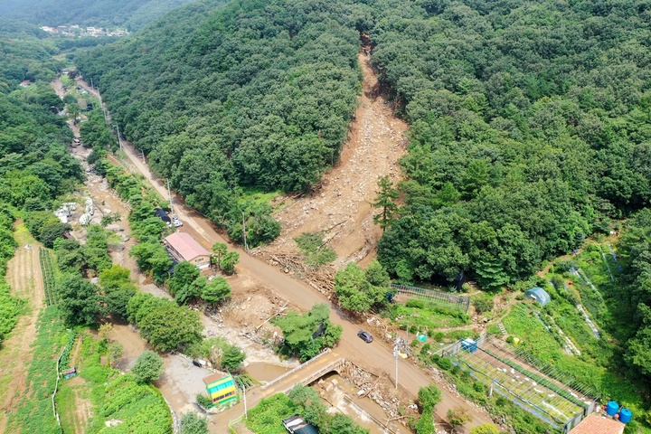
[[[412,125],[394,276],[508,286],[649,204],[648,2],[391,4],[371,35]]]

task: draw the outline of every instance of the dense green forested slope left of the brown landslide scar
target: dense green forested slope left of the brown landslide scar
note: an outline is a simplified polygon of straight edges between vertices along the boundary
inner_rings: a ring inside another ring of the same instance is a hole
[[[344,141],[359,90],[356,11],[203,1],[78,64],[157,174],[231,235],[246,219],[255,245],[278,224],[247,192],[308,189]]]

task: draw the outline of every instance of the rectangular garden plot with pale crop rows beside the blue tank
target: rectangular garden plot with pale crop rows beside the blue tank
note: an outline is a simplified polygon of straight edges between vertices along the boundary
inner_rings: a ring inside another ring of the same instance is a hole
[[[567,386],[553,374],[547,375],[524,363],[491,339],[479,344],[473,353],[458,351],[452,360],[477,380],[493,386],[494,392],[559,429],[593,405],[593,397]],[[577,386],[576,382],[573,384]]]

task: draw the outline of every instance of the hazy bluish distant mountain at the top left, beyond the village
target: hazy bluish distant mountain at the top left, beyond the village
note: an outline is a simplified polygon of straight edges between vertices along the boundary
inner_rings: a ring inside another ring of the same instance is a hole
[[[6,0],[0,14],[38,25],[111,25],[136,31],[193,0]]]

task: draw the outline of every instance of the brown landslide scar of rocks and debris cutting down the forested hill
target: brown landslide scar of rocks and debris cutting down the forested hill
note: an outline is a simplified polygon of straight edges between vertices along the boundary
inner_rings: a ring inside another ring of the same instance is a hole
[[[363,94],[339,164],[325,174],[322,188],[316,193],[279,200],[285,203],[276,213],[282,231],[265,251],[297,251],[294,238],[336,225],[327,234],[332,237],[328,245],[337,253],[336,269],[351,260],[367,262],[375,257],[382,230],[373,224],[377,210],[371,203],[380,176],[389,175],[394,183],[401,179],[398,160],[406,153],[404,132],[408,125],[393,116],[388,101],[378,94],[379,83],[370,61],[367,54],[360,52]]]

